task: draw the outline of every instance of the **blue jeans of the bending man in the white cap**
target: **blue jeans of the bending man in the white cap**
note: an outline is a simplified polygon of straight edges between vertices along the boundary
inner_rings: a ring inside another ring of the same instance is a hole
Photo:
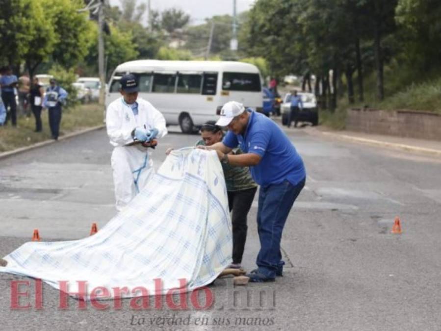
[[[305,179],[297,185],[285,180],[281,184],[260,187],[257,212],[260,251],[256,264],[266,277],[274,278],[276,270],[285,264],[280,252],[282,231],[294,201],[305,186]]]

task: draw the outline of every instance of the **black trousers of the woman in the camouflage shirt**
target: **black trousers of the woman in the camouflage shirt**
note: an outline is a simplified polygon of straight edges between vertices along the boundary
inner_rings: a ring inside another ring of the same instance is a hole
[[[233,263],[241,263],[247,239],[247,215],[253,203],[257,187],[240,191],[229,191],[228,205],[233,211],[231,218],[233,225]]]

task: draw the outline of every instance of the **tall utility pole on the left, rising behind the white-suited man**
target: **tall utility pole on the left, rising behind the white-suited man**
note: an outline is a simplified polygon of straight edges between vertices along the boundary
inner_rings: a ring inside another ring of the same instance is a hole
[[[98,74],[100,76],[100,99],[99,103],[104,104],[105,94],[105,76],[104,76],[104,1],[105,0],[90,0],[87,6],[79,9],[78,12],[90,11],[93,15],[98,14]]]

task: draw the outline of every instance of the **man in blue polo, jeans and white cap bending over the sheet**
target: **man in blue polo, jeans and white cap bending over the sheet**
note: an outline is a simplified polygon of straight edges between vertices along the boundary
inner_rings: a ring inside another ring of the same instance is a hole
[[[216,125],[229,131],[220,143],[208,146],[221,162],[249,166],[251,176],[260,185],[257,214],[260,251],[257,269],[247,276],[250,281],[274,281],[283,275],[280,241],[286,218],[305,185],[303,160],[282,129],[266,116],[235,101],[221,109]],[[228,154],[240,146],[243,154]]]

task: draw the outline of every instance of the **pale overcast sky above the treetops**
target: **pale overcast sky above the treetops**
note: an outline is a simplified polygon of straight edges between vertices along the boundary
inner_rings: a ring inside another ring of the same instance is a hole
[[[147,0],[137,0],[137,2],[147,4]],[[255,0],[236,0],[237,13],[250,9],[254,2]],[[113,6],[120,3],[120,0],[110,0]],[[150,6],[158,11],[172,7],[182,9],[190,15],[191,25],[202,24],[205,18],[214,15],[233,15],[233,0],[150,0]]]

